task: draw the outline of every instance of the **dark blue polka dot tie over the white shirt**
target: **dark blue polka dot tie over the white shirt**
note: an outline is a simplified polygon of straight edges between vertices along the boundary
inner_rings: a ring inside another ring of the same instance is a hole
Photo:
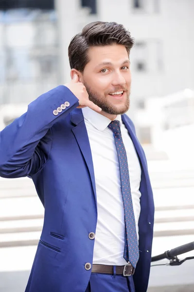
[[[112,121],[108,128],[113,132],[115,139],[115,146],[117,149],[120,178],[121,178],[121,191],[123,196],[124,207],[124,223],[125,223],[125,244],[124,244],[124,259],[132,264],[135,268],[139,259],[138,238],[136,233],[135,217],[133,212],[133,203],[131,197],[131,188],[129,180],[129,169],[126,156],[126,150],[123,144],[121,135],[121,127],[119,121]]]

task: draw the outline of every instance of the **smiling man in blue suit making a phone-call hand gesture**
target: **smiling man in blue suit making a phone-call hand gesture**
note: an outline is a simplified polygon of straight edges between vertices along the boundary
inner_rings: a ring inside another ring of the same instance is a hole
[[[45,207],[26,292],[147,290],[154,203],[124,114],[132,46],[123,25],[88,24],[69,46],[71,82],[0,133],[0,175],[32,178]]]

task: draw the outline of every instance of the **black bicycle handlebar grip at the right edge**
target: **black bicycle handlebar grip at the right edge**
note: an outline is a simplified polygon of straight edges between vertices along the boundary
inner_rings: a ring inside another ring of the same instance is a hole
[[[160,254],[158,256],[152,256],[151,261],[154,262],[154,261],[158,261],[158,260],[161,260],[164,258],[171,259],[175,256],[182,255],[182,254],[191,252],[193,250],[194,250],[194,241],[180,245],[180,246],[173,248],[170,251],[166,251],[165,253]]]

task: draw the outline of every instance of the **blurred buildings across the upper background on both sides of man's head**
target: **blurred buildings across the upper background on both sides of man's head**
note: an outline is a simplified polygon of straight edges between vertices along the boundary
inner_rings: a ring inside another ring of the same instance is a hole
[[[91,21],[116,21],[131,32],[131,109],[141,143],[151,128],[139,123],[152,96],[194,89],[192,0],[6,0],[0,7],[0,104],[29,103],[70,79],[68,45]],[[17,8],[17,9],[16,9]]]

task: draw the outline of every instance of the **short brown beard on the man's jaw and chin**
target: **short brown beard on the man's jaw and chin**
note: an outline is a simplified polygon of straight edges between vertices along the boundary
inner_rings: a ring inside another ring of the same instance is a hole
[[[108,94],[108,92],[105,93],[104,95],[101,95],[98,92],[93,91],[88,86],[88,84],[86,82],[84,82],[84,86],[86,87],[86,90],[88,92],[89,100],[92,101],[98,107],[100,107],[104,112],[106,112],[108,114],[118,115],[118,114],[123,114],[123,113],[127,112],[127,110],[129,109],[129,106],[130,106],[130,100],[129,100],[130,92],[128,90],[126,90],[125,88],[121,89],[121,86],[118,89],[115,88],[115,91],[124,90],[126,92],[126,95],[127,95],[124,105],[121,108],[118,109],[116,106],[112,105],[106,99],[106,95]]]

